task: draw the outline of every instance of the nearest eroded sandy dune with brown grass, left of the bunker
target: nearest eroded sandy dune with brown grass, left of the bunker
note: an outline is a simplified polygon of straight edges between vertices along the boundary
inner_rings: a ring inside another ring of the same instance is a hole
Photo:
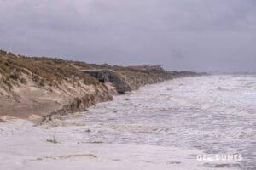
[[[52,112],[84,111],[112,99],[111,90],[61,59],[0,56],[1,116],[45,116]],[[68,106],[69,105],[69,106]]]

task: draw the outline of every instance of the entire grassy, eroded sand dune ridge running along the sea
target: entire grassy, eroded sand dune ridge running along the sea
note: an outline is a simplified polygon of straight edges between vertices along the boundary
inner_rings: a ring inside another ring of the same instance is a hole
[[[108,82],[82,70],[111,70]],[[137,89],[148,83],[196,73],[160,69],[94,65],[46,57],[26,57],[0,51],[0,116],[27,118],[86,111],[90,105],[113,99],[117,92]]]

